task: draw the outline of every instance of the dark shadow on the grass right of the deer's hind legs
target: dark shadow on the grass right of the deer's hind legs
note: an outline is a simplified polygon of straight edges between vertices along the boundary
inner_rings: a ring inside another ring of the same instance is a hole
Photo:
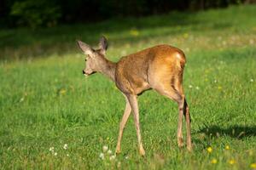
[[[256,126],[236,125],[224,128],[213,125],[211,127],[202,128],[198,133],[205,133],[209,137],[230,136],[235,139],[243,139],[256,136]]]

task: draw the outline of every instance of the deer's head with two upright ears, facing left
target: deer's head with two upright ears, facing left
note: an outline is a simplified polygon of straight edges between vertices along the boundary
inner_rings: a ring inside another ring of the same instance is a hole
[[[108,43],[106,37],[101,37],[98,48],[91,48],[90,45],[77,41],[79,48],[82,49],[85,56],[85,68],[83,70],[84,76],[89,76],[96,71],[101,71],[102,60],[105,59]]]

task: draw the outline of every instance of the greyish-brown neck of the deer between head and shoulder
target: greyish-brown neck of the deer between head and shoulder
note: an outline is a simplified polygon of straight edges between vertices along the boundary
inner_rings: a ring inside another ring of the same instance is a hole
[[[99,72],[109,77],[114,82],[114,72],[115,72],[116,63],[108,59],[102,59],[102,64],[100,66],[101,66],[101,69]]]

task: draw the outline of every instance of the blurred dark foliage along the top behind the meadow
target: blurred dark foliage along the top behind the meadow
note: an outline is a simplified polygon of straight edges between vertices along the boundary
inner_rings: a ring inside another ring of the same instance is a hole
[[[113,17],[165,14],[172,10],[224,8],[255,0],[1,0],[3,27],[55,26],[57,23],[92,22]]]

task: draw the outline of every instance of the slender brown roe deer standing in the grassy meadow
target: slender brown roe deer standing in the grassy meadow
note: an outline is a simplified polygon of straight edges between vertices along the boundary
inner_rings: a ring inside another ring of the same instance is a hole
[[[84,75],[89,76],[95,72],[101,72],[115,82],[117,88],[125,96],[126,106],[119,124],[116,153],[121,150],[123,130],[132,111],[137,130],[139,153],[142,156],[145,154],[140,132],[137,95],[150,88],[177,102],[177,144],[178,147],[183,146],[182,119],[184,115],[187,127],[187,149],[192,150],[189,106],[183,93],[183,70],[186,59],[182,50],[169,45],[158,45],[122,57],[117,63],[114,63],[105,57],[108,48],[105,37],[100,39],[98,49],[91,48],[81,41],[78,41],[78,45],[86,54]]]

